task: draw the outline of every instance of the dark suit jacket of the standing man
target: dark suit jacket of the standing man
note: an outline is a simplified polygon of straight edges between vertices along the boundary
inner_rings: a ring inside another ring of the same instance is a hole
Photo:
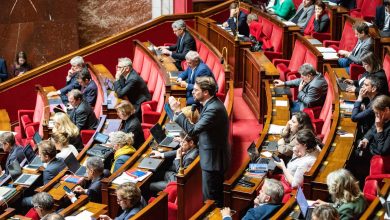
[[[230,164],[229,122],[225,106],[217,97],[214,96],[206,102],[196,124],[191,124],[184,114],[179,114],[174,121],[188,135],[199,135],[198,148],[202,170],[226,171]]]

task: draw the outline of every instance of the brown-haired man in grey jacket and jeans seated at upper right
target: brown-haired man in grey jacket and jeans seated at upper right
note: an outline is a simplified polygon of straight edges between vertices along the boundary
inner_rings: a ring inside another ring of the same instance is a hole
[[[373,40],[369,35],[368,25],[364,22],[356,22],[353,25],[355,36],[358,41],[352,51],[339,50],[338,53],[342,58],[339,58],[338,63],[340,67],[346,68],[349,73],[349,65],[356,63],[362,65],[362,56],[368,52],[373,52]]]

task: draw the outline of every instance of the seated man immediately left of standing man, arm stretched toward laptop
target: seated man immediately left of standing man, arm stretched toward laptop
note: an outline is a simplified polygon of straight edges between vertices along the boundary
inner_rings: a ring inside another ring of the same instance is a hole
[[[188,167],[192,161],[198,156],[199,151],[196,148],[196,143],[198,142],[198,138],[190,137],[186,135],[184,132],[180,133],[181,144],[180,148],[177,150],[172,150],[168,152],[161,153],[159,151],[152,151],[151,157],[157,158],[165,158],[165,159],[173,159],[172,163],[168,167],[168,169],[164,173],[164,177],[161,178],[163,180],[152,182],[150,184],[150,191],[157,193],[165,189],[168,183],[172,181],[176,181],[176,174],[180,169],[180,158],[182,157],[183,168]],[[157,178],[158,179],[158,178]]]

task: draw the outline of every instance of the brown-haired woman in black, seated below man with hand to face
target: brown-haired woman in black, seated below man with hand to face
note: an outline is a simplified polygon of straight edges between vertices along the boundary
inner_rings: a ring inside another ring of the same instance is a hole
[[[141,127],[141,122],[135,115],[134,106],[129,101],[123,100],[115,107],[115,109],[118,117],[122,119],[121,131],[125,133],[131,132],[134,134],[133,146],[138,149],[145,142],[145,137]]]

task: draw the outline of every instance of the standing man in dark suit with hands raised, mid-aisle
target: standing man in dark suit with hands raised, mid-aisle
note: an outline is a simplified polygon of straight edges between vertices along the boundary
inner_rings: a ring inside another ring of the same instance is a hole
[[[175,112],[174,121],[190,136],[199,135],[199,156],[202,169],[203,199],[215,200],[223,205],[224,173],[230,164],[228,143],[229,121],[225,106],[215,94],[217,85],[210,76],[196,78],[192,95],[203,106],[200,118],[192,124],[180,110],[180,103],[169,97]]]

